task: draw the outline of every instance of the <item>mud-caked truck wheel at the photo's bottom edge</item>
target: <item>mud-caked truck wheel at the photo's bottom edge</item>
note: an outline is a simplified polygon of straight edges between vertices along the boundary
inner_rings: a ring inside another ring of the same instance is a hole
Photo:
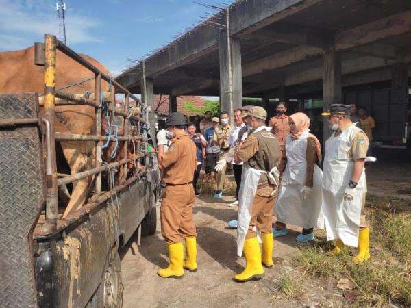
[[[99,287],[86,307],[121,308],[123,307],[123,290],[121,261],[119,253],[115,252],[114,257],[105,268]]]

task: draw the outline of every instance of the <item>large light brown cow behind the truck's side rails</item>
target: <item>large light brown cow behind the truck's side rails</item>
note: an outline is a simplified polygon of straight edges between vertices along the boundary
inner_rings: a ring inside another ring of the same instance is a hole
[[[88,55],[82,55],[91,64],[103,73],[107,68]],[[44,91],[44,77],[42,66],[34,65],[34,47],[24,50],[0,53],[0,93],[21,93]],[[58,51],[56,60],[56,83],[59,89],[79,81],[93,77],[94,73],[78,64],[70,57]],[[103,81],[102,90],[108,91],[108,83]],[[64,89],[69,93],[94,92],[95,82],[90,80],[84,84]],[[55,131],[60,133],[95,134],[95,109],[86,105],[56,107]],[[92,167],[94,161],[94,142],[61,142],[62,151],[66,158],[71,174],[74,175]],[[66,217],[73,209],[84,205],[91,177],[73,183],[73,191],[69,205],[64,211]]]

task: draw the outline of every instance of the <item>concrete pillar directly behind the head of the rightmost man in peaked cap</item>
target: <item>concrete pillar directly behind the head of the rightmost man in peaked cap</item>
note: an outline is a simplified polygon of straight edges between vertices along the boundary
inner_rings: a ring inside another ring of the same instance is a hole
[[[332,103],[341,103],[341,56],[334,49],[327,49],[323,56],[323,110],[329,110]],[[331,131],[327,120],[323,122],[323,144],[329,138]]]

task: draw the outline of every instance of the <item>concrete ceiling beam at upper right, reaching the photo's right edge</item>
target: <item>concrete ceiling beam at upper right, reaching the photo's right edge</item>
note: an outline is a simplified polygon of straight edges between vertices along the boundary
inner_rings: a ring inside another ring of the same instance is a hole
[[[411,10],[341,31],[334,38],[336,51],[351,49],[363,44],[411,32]]]

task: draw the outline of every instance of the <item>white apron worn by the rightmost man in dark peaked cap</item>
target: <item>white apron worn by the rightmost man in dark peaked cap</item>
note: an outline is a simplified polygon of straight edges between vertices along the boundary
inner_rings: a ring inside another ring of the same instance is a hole
[[[354,169],[353,159],[349,157],[351,144],[360,131],[353,123],[338,136],[333,133],[325,142],[323,165],[323,211],[327,240],[339,238],[345,245],[353,247],[358,246],[362,195],[366,192],[365,170],[352,201],[345,200],[344,192]]]

